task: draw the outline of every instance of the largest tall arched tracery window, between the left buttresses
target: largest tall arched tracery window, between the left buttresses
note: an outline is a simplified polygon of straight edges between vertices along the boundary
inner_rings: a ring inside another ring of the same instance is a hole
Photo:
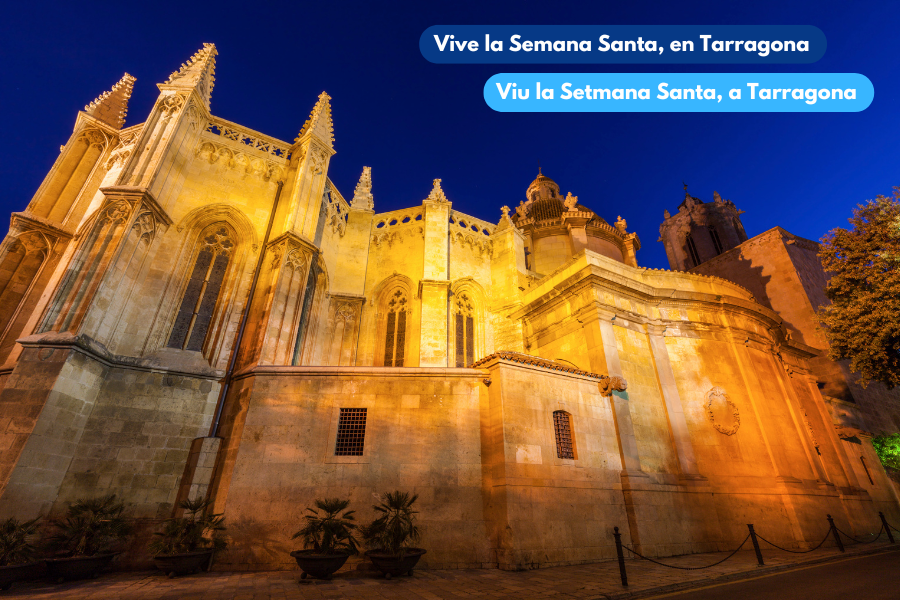
[[[221,223],[200,234],[200,251],[166,344],[169,348],[203,351],[234,245],[231,232]]]

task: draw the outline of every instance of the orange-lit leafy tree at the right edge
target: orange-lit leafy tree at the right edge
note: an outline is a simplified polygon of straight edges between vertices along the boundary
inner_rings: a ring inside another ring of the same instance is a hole
[[[819,320],[829,358],[850,360],[863,386],[900,385],[900,187],[854,209],[852,229],[822,238],[819,258],[831,279]]]

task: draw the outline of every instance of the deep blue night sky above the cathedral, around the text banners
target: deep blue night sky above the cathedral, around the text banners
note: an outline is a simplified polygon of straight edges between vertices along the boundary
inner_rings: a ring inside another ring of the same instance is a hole
[[[41,2],[0,18],[0,212],[25,208],[76,112],[127,71],[127,125],[203,42],[216,44],[215,115],[292,141],[322,90],[332,96],[345,197],[372,167],[378,212],[418,204],[443,179],[453,207],[496,222],[537,174],[643,242],[642,266],[667,267],[663,210],[713,190],[756,235],[780,225],[819,239],[853,206],[900,185],[900,4],[880,2]],[[811,65],[435,65],[419,53],[436,24],[815,25]],[[862,113],[501,114],[482,97],[498,72],[853,72],[874,84]]]

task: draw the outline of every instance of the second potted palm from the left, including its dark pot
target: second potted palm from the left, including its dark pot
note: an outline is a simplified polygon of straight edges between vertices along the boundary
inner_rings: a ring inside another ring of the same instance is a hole
[[[116,550],[131,535],[125,505],[115,494],[76,500],[64,517],[50,521],[48,545],[56,558],[45,559],[51,579],[96,577],[109,567]]]

